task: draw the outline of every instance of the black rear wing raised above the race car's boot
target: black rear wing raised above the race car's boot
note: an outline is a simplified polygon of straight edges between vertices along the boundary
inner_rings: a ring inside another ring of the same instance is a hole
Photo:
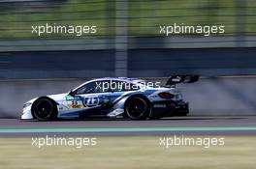
[[[166,86],[176,86],[177,83],[195,83],[200,75],[172,75],[169,77]]]

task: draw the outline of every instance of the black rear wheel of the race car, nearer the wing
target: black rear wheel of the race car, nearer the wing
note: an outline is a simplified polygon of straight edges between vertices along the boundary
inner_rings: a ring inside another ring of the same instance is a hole
[[[151,111],[149,101],[143,97],[132,97],[125,103],[125,115],[132,120],[144,120]]]

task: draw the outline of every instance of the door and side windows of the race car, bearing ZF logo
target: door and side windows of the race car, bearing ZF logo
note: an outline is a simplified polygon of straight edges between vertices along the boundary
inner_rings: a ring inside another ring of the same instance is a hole
[[[84,84],[75,91],[75,96],[67,96],[70,108],[112,107],[112,104],[134,91],[133,84],[119,80],[98,80]]]

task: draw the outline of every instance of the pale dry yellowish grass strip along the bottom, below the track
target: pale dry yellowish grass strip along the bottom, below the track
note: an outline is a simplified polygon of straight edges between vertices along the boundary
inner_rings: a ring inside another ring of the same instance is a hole
[[[165,149],[157,136],[97,138],[97,146],[82,149],[38,149],[31,146],[31,138],[0,138],[0,168],[251,169],[256,165],[255,136],[227,136],[225,146],[209,149]]]

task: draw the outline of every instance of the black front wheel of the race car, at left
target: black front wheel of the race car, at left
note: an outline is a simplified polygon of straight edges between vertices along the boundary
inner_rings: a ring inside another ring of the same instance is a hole
[[[32,116],[39,121],[54,120],[57,118],[57,105],[47,97],[37,99],[32,105]]]

